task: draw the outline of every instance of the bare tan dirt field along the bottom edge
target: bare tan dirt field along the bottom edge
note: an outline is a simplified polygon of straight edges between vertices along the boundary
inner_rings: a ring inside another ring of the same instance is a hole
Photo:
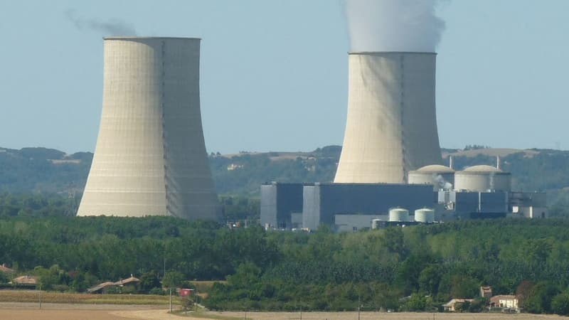
[[[160,309],[156,309],[160,308]],[[125,306],[125,305],[90,305],[90,304],[45,304],[38,309],[37,304],[1,303],[0,319],[11,320],[203,320],[191,316],[168,314],[164,306]],[[245,319],[245,312],[205,312],[203,316],[213,319]],[[247,319],[252,320],[300,320],[299,313],[287,312],[248,312]],[[356,320],[357,312],[303,312],[303,320]],[[376,313],[362,312],[361,320],[371,319],[567,319],[560,316],[540,316],[533,314],[426,314],[426,313]]]

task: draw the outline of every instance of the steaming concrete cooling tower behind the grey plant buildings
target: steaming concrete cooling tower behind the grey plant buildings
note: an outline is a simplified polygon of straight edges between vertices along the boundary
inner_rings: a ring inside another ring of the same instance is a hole
[[[440,164],[436,53],[349,54],[346,134],[335,183],[405,183]]]

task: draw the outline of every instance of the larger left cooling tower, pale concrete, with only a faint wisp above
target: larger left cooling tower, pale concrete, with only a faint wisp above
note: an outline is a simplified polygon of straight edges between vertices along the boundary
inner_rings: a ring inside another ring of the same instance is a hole
[[[200,39],[110,37],[104,47],[99,136],[77,215],[217,220]]]

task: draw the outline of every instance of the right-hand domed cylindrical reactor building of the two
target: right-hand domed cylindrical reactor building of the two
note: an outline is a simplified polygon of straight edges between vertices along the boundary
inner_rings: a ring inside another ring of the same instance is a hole
[[[454,189],[467,191],[511,191],[511,174],[494,166],[471,166],[454,174]]]

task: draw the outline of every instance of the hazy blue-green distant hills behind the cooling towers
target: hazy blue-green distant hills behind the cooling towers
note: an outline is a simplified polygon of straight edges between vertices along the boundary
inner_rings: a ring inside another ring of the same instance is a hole
[[[261,183],[329,182],[334,179],[341,146],[314,151],[242,152],[209,156],[218,193],[256,197]],[[548,191],[551,203],[569,206],[569,151],[551,149],[442,149],[444,161],[453,156],[454,168],[496,164],[512,173],[514,190]],[[65,154],[46,148],[0,148],[0,191],[11,193],[66,193],[83,191],[92,153]]]

